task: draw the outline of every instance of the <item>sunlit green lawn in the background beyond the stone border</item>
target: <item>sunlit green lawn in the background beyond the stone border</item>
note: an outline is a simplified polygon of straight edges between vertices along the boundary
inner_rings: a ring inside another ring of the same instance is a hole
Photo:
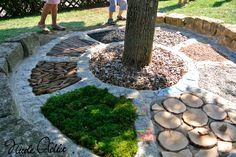
[[[186,15],[208,16],[236,24],[236,0],[195,0],[183,7],[177,5],[177,0],[162,0],[159,11],[165,13],[182,13]],[[108,8],[74,10],[61,13],[58,22],[69,30],[84,30],[103,26],[107,21]],[[31,17],[0,20],[0,42],[6,38],[24,32],[36,32],[40,15]],[[50,24],[48,17],[47,24]],[[122,24],[122,23],[121,23]]]

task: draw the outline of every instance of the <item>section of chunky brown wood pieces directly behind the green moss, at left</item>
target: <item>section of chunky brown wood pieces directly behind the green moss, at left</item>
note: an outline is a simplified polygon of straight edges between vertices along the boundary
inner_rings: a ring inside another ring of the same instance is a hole
[[[40,61],[29,79],[33,92],[35,95],[52,93],[80,81],[76,66],[76,62]]]

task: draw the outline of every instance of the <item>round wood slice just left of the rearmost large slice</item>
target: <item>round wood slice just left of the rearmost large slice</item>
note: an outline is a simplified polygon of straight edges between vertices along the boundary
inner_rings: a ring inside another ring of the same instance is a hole
[[[165,101],[163,101],[163,106],[168,110],[169,112],[172,113],[183,113],[186,111],[186,106],[184,103],[182,103],[180,100],[176,98],[168,98]]]

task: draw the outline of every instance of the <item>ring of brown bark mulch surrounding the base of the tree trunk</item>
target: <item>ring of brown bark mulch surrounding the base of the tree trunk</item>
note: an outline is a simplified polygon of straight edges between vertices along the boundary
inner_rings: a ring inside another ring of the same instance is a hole
[[[154,48],[152,61],[141,70],[122,63],[123,45],[96,52],[90,70],[105,83],[138,90],[158,90],[176,84],[186,73],[184,62],[161,48]]]

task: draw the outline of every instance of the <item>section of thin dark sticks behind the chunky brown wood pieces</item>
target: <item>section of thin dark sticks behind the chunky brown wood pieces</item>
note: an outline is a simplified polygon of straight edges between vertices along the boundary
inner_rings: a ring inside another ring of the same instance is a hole
[[[93,45],[96,45],[96,43],[80,39],[78,36],[75,36],[62,41],[59,44],[56,44],[47,55],[56,57],[78,57],[84,53],[89,48],[89,46]]]

